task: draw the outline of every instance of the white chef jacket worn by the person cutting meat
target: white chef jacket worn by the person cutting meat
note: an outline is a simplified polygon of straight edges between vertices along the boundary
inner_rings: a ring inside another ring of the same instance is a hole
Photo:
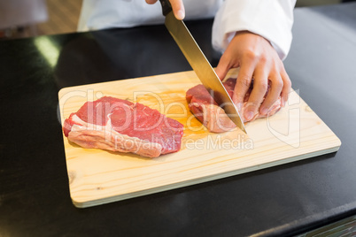
[[[183,0],[185,19],[213,18],[212,43],[223,52],[236,31],[266,38],[284,59],[292,39],[293,8],[297,0]],[[144,0],[83,0],[78,30],[163,24],[159,2]]]

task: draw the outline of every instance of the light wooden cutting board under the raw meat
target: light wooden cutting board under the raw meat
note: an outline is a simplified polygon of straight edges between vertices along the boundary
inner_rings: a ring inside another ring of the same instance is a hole
[[[231,71],[228,76],[236,76]],[[114,96],[143,103],[184,125],[182,149],[158,158],[83,149],[64,136],[70,194],[85,208],[221,179],[337,151],[341,141],[298,96],[275,116],[212,134],[190,113],[185,92],[200,81],[194,72],[118,80],[59,91],[62,123],[86,101]]]

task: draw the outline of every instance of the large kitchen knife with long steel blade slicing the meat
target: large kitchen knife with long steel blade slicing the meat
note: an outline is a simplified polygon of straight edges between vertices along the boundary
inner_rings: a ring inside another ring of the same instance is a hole
[[[159,2],[162,5],[163,15],[166,17],[166,28],[182,50],[184,57],[190,63],[197,77],[209,91],[210,95],[213,96],[214,101],[225,111],[228,118],[247,134],[244,128],[244,122],[240,118],[236,105],[232,102],[230,96],[228,96],[228,92],[222,85],[221,80],[213,70],[212,65],[210,65],[206,59],[203,51],[200,50],[197,42],[190,34],[190,31],[182,20],[178,20],[174,17],[169,0],[159,0]]]

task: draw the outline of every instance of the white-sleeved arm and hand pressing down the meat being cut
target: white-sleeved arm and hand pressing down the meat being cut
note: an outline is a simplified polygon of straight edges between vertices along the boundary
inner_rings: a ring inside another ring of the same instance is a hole
[[[226,0],[213,24],[213,46],[224,51],[216,73],[224,79],[228,70],[240,67],[234,90],[234,103],[243,103],[244,95],[254,87],[245,119],[259,110],[266,115],[281,96],[288,100],[290,79],[282,59],[290,49],[295,0]],[[266,97],[268,80],[271,89]],[[262,103],[263,102],[263,103]]]

